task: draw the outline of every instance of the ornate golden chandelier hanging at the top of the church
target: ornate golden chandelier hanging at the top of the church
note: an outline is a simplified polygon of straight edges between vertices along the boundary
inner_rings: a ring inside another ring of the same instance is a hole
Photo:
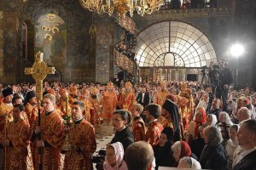
[[[134,11],[143,16],[159,10],[163,5],[163,0],[79,0],[81,6],[90,12],[96,11],[98,14],[107,13],[112,15],[114,11],[123,15]]]

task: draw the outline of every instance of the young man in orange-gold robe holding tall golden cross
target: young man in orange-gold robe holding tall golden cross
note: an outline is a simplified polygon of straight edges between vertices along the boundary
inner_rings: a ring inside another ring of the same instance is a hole
[[[35,151],[35,169],[61,170],[61,146],[64,142],[64,126],[61,116],[55,111],[55,95],[45,94],[43,97],[43,81],[48,74],[54,74],[54,67],[47,67],[43,61],[43,54],[35,54],[32,68],[25,69],[36,81],[36,96],[38,108],[43,99],[43,111],[38,109],[38,126],[34,129],[32,139],[36,142],[38,150]]]

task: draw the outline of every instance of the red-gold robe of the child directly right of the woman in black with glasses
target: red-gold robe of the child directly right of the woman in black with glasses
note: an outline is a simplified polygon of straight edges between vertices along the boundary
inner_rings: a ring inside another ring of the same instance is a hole
[[[145,139],[146,127],[142,117],[137,116],[133,119],[131,132],[134,137],[134,142]]]

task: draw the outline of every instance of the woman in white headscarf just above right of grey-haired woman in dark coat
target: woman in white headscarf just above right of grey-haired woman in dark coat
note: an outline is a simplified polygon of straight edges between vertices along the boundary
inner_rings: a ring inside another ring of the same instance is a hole
[[[224,139],[223,145],[225,146],[226,142],[230,139],[230,127],[233,125],[233,122],[231,122],[229,114],[225,111],[219,113],[218,121],[218,127]]]

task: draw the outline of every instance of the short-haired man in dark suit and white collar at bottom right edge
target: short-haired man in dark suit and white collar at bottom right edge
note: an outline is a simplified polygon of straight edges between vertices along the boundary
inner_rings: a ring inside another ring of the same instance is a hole
[[[256,157],[256,120],[249,119],[241,122],[241,127],[236,134],[239,145],[244,148],[241,156],[236,156],[233,162],[234,170],[250,169],[255,170]],[[235,151],[236,152],[236,151]]]

